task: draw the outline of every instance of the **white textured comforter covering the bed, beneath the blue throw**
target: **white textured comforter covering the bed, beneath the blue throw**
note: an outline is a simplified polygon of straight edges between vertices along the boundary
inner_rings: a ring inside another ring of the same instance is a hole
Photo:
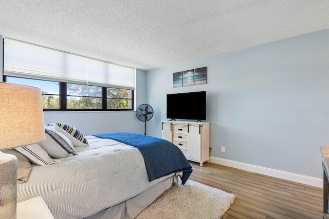
[[[148,180],[143,157],[135,147],[86,136],[90,146],[62,163],[32,165],[27,183],[17,187],[18,202],[41,195],[54,218],[84,218],[134,197],[164,180]]]

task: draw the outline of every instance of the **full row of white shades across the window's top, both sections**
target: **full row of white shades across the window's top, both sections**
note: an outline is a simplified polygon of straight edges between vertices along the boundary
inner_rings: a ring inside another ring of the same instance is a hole
[[[4,75],[135,89],[135,69],[5,38]]]

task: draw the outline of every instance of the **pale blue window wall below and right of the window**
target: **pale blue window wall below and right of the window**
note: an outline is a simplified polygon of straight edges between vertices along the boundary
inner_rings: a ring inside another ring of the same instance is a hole
[[[146,72],[136,71],[136,105],[146,101]],[[67,123],[84,135],[127,131],[144,133],[144,123],[136,118],[136,111],[44,112],[45,124]]]

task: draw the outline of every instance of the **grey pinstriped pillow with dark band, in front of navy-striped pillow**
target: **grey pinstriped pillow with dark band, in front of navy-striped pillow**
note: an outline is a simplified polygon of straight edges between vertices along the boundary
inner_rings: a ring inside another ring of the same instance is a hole
[[[38,143],[52,158],[63,158],[75,155],[71,141],[56,130],[45,129],[46,140]]]

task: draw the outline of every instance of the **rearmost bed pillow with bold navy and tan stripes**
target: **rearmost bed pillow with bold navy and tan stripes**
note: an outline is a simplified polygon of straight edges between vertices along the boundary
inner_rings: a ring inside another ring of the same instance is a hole
[[[89,146],[86,138],[75,127],[64,123],[53,123],[48,125],[52,126],[52,130],[56,130],[64,134],[73,144],[74,147]]]

